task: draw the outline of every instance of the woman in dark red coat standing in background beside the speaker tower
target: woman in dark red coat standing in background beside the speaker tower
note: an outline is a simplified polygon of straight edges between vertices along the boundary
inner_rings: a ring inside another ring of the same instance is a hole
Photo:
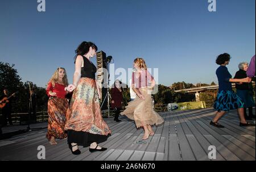
[[[119,122],[121,120],[118,119],[120,111],[122,109],[123,95],[122,95],[122,82],[118,79],[115,80],[114,87],[111,89],[111,107],[115,110],[115,118],[114,120]]]

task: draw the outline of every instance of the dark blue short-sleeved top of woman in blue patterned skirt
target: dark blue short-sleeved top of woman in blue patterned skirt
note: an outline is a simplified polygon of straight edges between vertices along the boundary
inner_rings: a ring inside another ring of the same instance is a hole
[[[216,75],[218,78],[218,90],[232,90],[232,83],[229,82],[229,79],[232,78],[232,75],[229,73],[226,66],[220,66],[216,70]]]

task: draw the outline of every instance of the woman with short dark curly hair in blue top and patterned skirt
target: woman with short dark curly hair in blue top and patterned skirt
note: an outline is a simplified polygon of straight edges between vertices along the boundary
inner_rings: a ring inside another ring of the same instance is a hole
[[[216,70],[218,78],[218,94],[217,99],[214,102],[214,109],[217,110],[213,120],[210,121],[210,125],[218,128],[224,128],[224,126],[218,124],[218,120],[227,111],[237,109],[240,116],[240,126],[255,126],[255,124],[249,124],[245,120],[243,114],[243,102],[236,93],[232,90],[231,82],[250,82],[250,78],[232,79],[232,75],[229,73],[226,65],[229,64],[230,55],[228,53],[220,54],[216,59],[216,64],[220,65]]]

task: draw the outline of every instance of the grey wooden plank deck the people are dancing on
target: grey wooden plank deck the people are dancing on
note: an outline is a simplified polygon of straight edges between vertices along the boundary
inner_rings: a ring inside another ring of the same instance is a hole
[[[220,120],[225,128],[209,125],[213,118],[212,108],[179,112],[160,112],[165,122],[154,127],[155,135],[142,141],[142,129],[136,129],[134,121],[121,117],[120,123],[113,118],[104,119],[112,129],[112,136],[101,146],[105,152],[90,153],[82,148],[74,156],[67,140],[57,140],[50,145],[46,129],[32,131],[11,139],[0,140],[0,160],[38,160],[38,146],[46,148],[46,160],[122,160],[122,161],[209,161],[208,147],[216,147],[217,161],[255,161],[255,127],[240,127],[236,111],[230,111]],[[42,161],[42,160],[40,160]]]

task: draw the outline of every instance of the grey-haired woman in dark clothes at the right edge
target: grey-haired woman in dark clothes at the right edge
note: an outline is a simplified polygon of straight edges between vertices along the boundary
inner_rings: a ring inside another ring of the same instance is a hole
[[[246,71],[248,69],[248,63],[247,62],[241,62],[238,65],[238,68],[240,70],[237,71],[234,78],[241,79],[246,78]],[[255,77],[252,78],[255,81]],[[253,107],[255,106],[255,102],[253,99],[253,85],[252,83],[236,83],[236,89],[237,89],[237,95],[243,100],[245,103],[243,106],[243,110],[245,112],[245,119],[252,120],[255,118],[255,115],[253,115]],[[246,108],[249,108],[249,116],[246,114]]]

